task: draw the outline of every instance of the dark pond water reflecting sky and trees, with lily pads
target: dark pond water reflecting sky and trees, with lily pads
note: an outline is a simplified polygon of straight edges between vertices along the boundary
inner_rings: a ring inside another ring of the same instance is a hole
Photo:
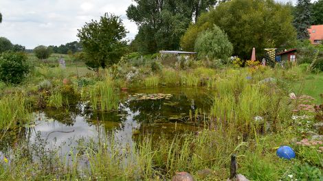
[[[122,144],[133,144],[139,134],[157,139],[196,132],[201,129],[203,112],[210,109],[211,98],[205,89],[150,88],[120,93],[118,111],[95,111],[83,103],[74,111],[34,112],[32,123],[5,134],[2,151],[21,139],[30,143],[42,140],[46,147],[59,147],[61,154],[66,154],[80,139],[96,140],[100,132],[110,132]]]

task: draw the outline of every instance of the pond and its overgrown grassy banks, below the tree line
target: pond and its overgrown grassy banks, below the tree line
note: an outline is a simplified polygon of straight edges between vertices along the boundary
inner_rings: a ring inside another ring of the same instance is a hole
[[[0,82],[1,180],[170,180],[178,171],[226,180],[232,154],[249,180],[323,178],[322,73],[160,58],[95,72],[66,55],[62,68],[59,57],[30,54],[23,83]],[[96,132],[52,147],[50,134],[78,132],[80,117]],[[278,158],[282,145],[296,158]]]

